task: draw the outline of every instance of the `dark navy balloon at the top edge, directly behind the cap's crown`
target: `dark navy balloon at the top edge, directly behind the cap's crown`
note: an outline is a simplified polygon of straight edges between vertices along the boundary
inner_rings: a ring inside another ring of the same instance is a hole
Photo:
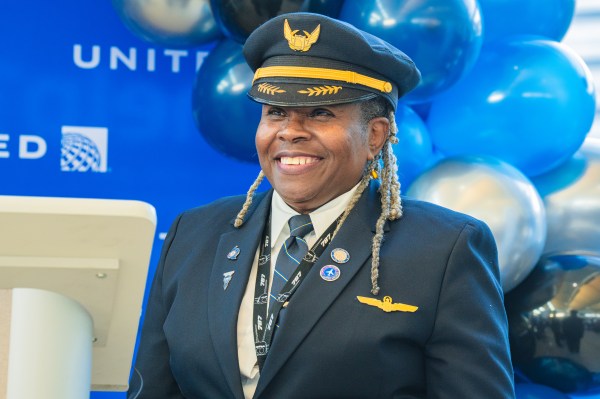
[[[244,43],[259,25],[288,12],[314,12],[337,17],[343,0],[210,0],[225,36]]]

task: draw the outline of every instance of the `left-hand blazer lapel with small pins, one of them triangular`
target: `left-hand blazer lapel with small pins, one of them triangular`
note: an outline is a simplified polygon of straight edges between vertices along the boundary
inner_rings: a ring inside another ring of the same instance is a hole
[[[221,235],[215,252],[209,283],[209,331],[219,359],[219,365],[227,383],[236,398],[243,398],[239,362],[237,355],[237,319],[240,303],[256,250],[271,208],[271,191],[257,194],[253,208],[246,216],[240,228],[233,227]],[[228,254],[235,247],[239,254],[229,259]],[[225,287],[225,273],[231,274],[231,280]]]

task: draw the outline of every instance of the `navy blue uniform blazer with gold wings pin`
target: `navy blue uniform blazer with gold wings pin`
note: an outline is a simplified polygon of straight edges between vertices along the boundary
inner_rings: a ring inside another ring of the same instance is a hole
[[[243,398],[237,316],[270,211],[258,194],[244,225],[243,197],[180,215],[164,243],[129,398]],[[386,226],[379,299],[414,313],[363,304],[370,293],[377,185],[365,191],[330,244],[350,261],[333,282],[313,266],[285,310],[255,398],[514,398],[507,321],[493,236],[469,216],[404,199]],[[238,246],[237,260],[227,253]],[[235,270],[227,290],[223,273]]]

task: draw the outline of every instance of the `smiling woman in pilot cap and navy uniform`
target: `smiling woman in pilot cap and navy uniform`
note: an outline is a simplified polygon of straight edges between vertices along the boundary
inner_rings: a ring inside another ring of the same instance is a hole
[[[400,198],[413,62],[309,13],[261,25],[244,55],[262,170],[173,224],[130,398],[514,398],[489,228]]]

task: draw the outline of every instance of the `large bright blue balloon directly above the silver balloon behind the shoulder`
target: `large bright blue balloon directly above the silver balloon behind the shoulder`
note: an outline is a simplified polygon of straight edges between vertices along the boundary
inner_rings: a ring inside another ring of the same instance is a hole
[[[448,155],[489,155],[535,176],[567,160],[595,115],[583,60],[561,43],[514,38],[484,46],[472,71],[435,99],[427,125]]]

